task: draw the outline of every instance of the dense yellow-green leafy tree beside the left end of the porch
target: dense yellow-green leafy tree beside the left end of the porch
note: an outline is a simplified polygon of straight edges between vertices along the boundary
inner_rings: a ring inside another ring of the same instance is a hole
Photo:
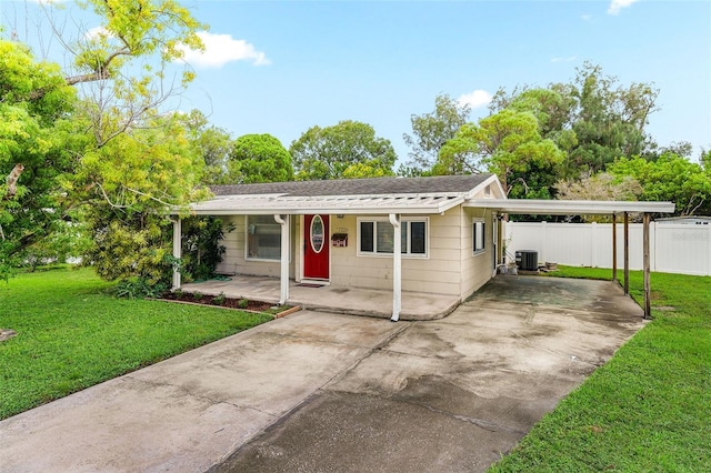
[[[97,273],[159,284],[172,269],[168,212],[206,193],[198,187],[202,160],[176,115],[143,125],[88,150],[69,185],[87,204]]]

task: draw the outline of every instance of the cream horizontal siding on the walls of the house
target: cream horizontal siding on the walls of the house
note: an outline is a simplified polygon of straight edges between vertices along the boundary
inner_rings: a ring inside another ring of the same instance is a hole
[[[485,250],[472,254],[472,221],[485,219]],[[358,219],[382,219],[382,215],[330,215],[330,282],[334,285],[390,289],[392,288],[392,255],[358,254]],[[234,224],[222,244],[227,248],[218,272],[224,274],[279,276],[278,261],[246,259],[246,218],[233,215],[224,219]],[[483,285],[492,274],[492,219],[483,209],[457,207],[444,214],[428,215],[427,258],[402,258],[402,290],[432,294],[457,295],[462,300]],[[301,279],[301,261],[304,244],[303,217],[291,217],[291,263],[289,276]],[[348,245],[332,245],[333,233],[347,233]]]

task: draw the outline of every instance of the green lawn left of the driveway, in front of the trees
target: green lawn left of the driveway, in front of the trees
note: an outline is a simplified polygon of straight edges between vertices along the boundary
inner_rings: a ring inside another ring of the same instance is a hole
[[[0,282],[0,419],[272,320],[264,314],[123,300],[91,270]]]

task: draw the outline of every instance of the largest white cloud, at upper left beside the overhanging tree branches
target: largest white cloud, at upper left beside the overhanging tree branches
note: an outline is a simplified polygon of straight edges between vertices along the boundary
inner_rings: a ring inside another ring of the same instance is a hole
[[[253,44],[244,40],[236,40],[231,34],[212,34],[199,32],[204,51],[183,48],[183,60],[196,67],[221,68],[228,62],[249,61],[254,66],[270,63],[267,54],[257,51]]]

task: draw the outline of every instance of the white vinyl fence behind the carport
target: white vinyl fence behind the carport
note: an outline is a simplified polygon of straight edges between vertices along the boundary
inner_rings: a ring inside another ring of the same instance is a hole
[[[618,223],[618,269],[624,268],[624,225]],[[612,223],[507,222],[505,250],[538,252],[543,262],[612,268]],[[650,224],[651,271],[711,275],[711,225]],[[642,269],[642,224],[630,223],[630,269]]]

